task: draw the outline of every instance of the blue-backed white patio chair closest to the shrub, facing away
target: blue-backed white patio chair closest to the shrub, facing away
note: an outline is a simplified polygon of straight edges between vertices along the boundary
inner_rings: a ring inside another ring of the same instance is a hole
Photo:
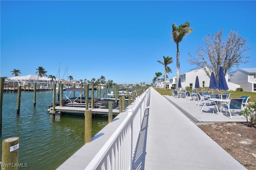
[[[232,119],[231,115],[234,115],[234,110],[243,109],[243,106],[242,106],[243,101],[244,101],[244,98],[231,98],[230,102],[223,103],[225,105],[223,107],[223,109],[225,109],[226,115],[227,115],[227,111],[228,111],[230,118]],[[232,109],[232,113],[231,113],[230,109]]]

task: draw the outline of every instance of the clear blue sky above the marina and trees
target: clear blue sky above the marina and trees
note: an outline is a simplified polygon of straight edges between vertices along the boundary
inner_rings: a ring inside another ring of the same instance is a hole
[[[163,56],[176,76],[172,23],[190,22],[193,32],[179,45],[180,73],[204,37],[233,29],[247,39],[250,56],[240,68],[256,67],[256,1],[0,1],[1,77],[13,69],[25,76],[42,66],[48,75],[117,84],[152,83],[164,73]],[[236,68],[234,68],[236,70]],[[65,74],[64,74],[65,73]],[[162,76],[163,77],[163,76]]]

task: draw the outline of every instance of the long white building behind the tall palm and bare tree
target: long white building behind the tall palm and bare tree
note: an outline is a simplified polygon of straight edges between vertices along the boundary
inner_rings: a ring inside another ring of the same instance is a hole
[[[190,87],[192,89],[195,88],[196,76],[199,79],[199,86],[200,87],[209,87],[210,86],[210,77],[207,76],[206,72],[200,68],[197,70],[192,70],[190,72],[186,72],[184,74],[180,74],[180,81],[182,88]],[[236,90],[239,88],[240,85],[234,84],[232,82],[228,82],[228,74],[225,76],[226,82],[228,84],[229,90]],[[169,88],[176,89],[178,81],[176,77],[170,78]]]

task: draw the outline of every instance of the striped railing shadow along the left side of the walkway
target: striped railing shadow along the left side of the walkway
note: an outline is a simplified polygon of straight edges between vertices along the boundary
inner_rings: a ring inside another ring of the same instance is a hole
[[[144,118],[142,120],[141,131],[138,136],[138,141],[134,151],[134,157],[132,161],[132,170],[144,170],[145,157],[146,157],[147,132],[148,132],[148,115],[149,115],[149,108],[145,110]]]

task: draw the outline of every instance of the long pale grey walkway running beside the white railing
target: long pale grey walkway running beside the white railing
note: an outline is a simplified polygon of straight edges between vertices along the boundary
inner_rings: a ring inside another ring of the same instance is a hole
[[[246,169],[153,88],[149,102],[133,169]]]

